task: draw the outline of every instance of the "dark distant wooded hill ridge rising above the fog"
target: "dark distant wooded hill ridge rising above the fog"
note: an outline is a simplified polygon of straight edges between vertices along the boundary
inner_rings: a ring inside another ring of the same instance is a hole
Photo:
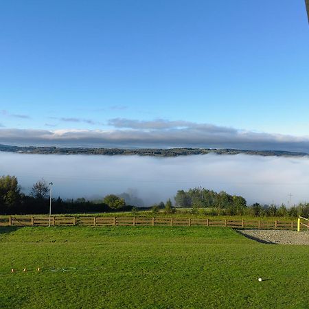
[[[278,150],[238,150],[238,149],[211,149],[211,148],[140,148],[140,149],[121,149],[121,148],[81,148],[81,147],[36,147],[36,146],[10,146],[1,145],[0,151],[18,152],[40,155],[139,155],[150,157],[179,157],[187,155],[259,155],[263,157],[306,157],[306,152],[289,152]]]

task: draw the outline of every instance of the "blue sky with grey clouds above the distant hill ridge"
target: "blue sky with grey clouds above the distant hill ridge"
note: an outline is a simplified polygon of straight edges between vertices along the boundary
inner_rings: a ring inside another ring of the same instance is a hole
[[[0,20],[0,144],[309,152],[304,0],[12,0]]]

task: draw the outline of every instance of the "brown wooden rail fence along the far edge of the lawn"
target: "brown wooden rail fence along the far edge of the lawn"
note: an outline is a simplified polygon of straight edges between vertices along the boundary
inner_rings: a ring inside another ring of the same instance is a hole
[[[52,226],[205,226],[205,227],[233,227],[237,229],[297,229],[296,221],[269,220],[227,220],[216,218],[149,218],[149,217],[90,217],[90,216],[52,216]],[[0,227],[38,227],[48,226],[49,216],[9,216],[0,218]]]

